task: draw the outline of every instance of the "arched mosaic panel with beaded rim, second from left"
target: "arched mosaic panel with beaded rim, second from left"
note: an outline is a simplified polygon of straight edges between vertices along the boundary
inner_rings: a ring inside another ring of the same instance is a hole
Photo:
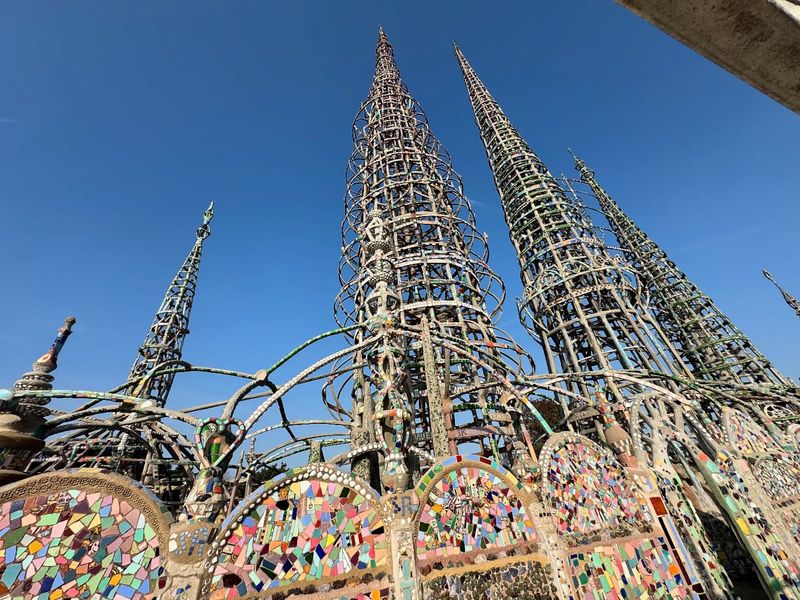
[[[238,598],[384,565],[387,536],[374,501],[365,486],[333,469],[290,472],[245,499],[223,524],[207,592]]]

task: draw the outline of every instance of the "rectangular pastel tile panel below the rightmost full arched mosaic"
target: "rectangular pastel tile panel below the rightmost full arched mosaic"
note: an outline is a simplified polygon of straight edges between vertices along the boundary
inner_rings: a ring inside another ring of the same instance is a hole
[[[661,537],[569,556],[579,600],[696,597]]]

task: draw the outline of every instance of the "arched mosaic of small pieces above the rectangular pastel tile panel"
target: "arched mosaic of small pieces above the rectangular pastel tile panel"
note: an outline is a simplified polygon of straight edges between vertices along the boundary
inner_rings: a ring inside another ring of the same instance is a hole
[[[647,508],[610,452],[578,435],[551,439],[542,449],[542,491],[562,538],[578,543],[587,534],[622,534],[645,524]]]

